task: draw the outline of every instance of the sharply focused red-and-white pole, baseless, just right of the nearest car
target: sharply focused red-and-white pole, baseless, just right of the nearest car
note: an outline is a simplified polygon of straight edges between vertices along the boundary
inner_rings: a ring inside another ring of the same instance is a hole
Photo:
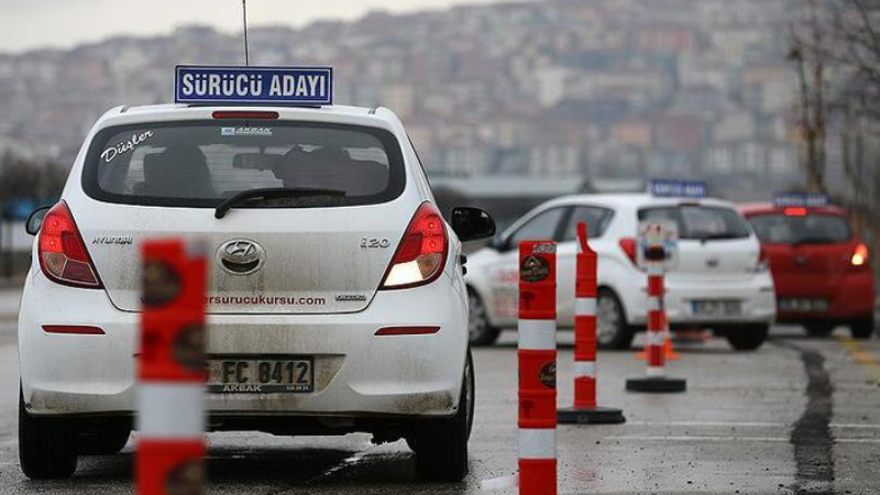
[[[557,246],[519,244],[519,493],[557,494]]]

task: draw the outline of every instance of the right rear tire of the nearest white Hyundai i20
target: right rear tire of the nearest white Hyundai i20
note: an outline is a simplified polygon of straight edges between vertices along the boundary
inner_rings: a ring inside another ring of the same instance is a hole
[[[416,476],[421,481],[460,482],[468,475],[468,439],[476,397],[470,350],[465,363],[455,416],[420,421],[418,430],[407,438],[416,452]]]

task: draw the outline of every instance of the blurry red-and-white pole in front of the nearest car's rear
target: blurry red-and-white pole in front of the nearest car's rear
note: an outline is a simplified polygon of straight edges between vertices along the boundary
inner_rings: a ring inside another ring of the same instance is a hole
[[[138,371],[139,495],[205,491],[204,252],[183,241],[143,245]]]

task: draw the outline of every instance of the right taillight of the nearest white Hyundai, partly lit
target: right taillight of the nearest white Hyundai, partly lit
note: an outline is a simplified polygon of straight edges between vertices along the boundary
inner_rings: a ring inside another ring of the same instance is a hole
[[[448,244],[443,218],[433,205],[424,204],[409,222],[381,288],[408,288],[432,282],[443,272]]]

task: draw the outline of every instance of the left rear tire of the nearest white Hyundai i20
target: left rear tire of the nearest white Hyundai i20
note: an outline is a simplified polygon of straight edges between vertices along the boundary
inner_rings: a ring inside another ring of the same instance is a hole
[[[76,472],[77,430],[73,419],[31,416],[19,388],[19,462],[31,480],[65,480]]]

